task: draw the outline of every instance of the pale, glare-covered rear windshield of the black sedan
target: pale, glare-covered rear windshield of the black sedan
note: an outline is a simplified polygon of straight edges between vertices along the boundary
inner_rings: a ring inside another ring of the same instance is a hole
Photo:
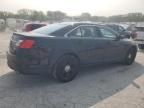
[[[67,24],[50,24],[50,25],[41,27],[39,29],[33,30],[32,32],[50,35],[58,30],[61,30],[65,27],[67,27],[67,26],[68,26]]]

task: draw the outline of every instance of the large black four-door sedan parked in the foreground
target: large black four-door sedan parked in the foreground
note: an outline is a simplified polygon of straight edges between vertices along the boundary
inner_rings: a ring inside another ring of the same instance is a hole
[[[58,23],[28,33],[14,33],[8,66],[20,73],[50,73],[68,82],[80,65],[121,62],[131,65],[137,47],[112,29],[94,23]]]

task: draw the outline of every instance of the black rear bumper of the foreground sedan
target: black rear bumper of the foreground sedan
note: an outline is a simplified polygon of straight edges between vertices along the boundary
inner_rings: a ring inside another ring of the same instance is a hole
[[[30,60],[18,58],[10,52],[7,52],[7,64],[11,69],[25,74],[48,74],[52,71],[48,64],[35,64]]]

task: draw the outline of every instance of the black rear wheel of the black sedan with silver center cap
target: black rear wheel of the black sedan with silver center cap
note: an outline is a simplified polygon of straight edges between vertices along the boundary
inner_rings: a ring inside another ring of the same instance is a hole
[[[69,82],[76,77],[78,69],[78,59],[71,55],[65,55],[57,61],[52,74],[60,82]]]

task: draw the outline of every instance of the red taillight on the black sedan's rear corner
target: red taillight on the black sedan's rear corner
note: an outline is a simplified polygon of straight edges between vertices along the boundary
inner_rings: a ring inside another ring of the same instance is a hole
[[[30,49],[34,46],[34,40],[19,40],[16,43],[16,46],[19,48]]]

